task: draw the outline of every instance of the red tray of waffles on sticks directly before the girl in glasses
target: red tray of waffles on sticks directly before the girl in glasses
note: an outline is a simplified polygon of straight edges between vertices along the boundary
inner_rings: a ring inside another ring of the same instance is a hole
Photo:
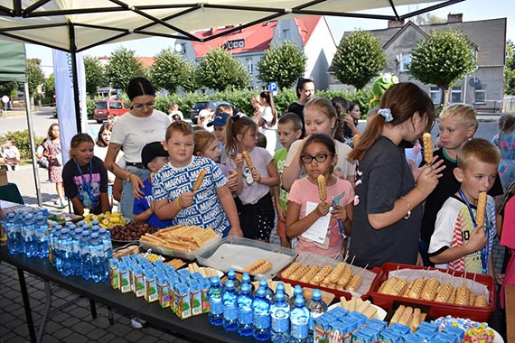
[[[352,265],[349,260],[302,253],[278,277],[287,283],[318,288],[338,297],[366,299],[379,268],[367,270]]]

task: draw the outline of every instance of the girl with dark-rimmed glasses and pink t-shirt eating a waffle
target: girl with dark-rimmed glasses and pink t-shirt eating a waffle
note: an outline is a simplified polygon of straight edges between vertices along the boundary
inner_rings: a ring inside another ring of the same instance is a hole
[[[336,177],[338,162],[334,141],[325,134],[312,134],[304,143],[300,162],[306,176],[296,180],[288,195],[286,235],[297,252],[328,257],[345,255],[345,236],[351,234],[354,190],[351,182]],[[323,175],[325,199],[318,178]],[[315,230],[323,239],[312,239]]]

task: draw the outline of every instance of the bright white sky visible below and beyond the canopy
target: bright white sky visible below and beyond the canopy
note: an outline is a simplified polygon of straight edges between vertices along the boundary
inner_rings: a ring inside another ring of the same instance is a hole
[[[512,6],[512,0],[465,0],[462,3],[450,5],[433,11],[432,14],[435,14],[441,18],[446,18],[447,14],[449,13],[461,13],[463,14],[463,22],[507,17],[508,26],[506,38],[515,42],[515,11],[512,10]],[[408,12],[416,11],[417,9],[417,5],[402,6],[398,12],[399,14],[406,14]],[[389,10],[385,9],[385,11]],[[378,13],[378,10],[372,12]],[[388,14],[390,14],[390,12],[388,12]],[[337,44],[340,42],[343,32],[353,31],[358,28],[362,30],[378,30],[387,28],[387,22],[384,20],[329,16],[326,17],[326,19],[332,31],[334,41]],[[173,45],[174,40],[172,39],[154,37],[115,44],[104,44],[95,48],[91,48],[87,51],[83,51],[83,54],[97,57],[109,56],[112,51],[115,51],[118,47],[123,46],[126,49],[136,51],[136,56],[138,57],[152,57],[163,49],[169,47],[173,48]],[[45,73],[49,73],[48,70],[52,68],[52,49],[40,45],[26,44],[26,51],[27,58],[41,59],[43,70]]]

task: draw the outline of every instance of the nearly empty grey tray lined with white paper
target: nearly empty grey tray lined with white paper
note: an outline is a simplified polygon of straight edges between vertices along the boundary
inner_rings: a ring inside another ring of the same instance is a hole
[[[265,242],[259,242],[248,238],[227,236],[209,249],[196,254],[199,264],[210,266],[227,272],[229,268],[243,273],[243,270],[259,259],[271,262],[272,268],[266,273],[250,273],[256,278],[266,277],[271,279],[276,276],[286,265],[291,264],[296,252],[282,246],[275,246]]]

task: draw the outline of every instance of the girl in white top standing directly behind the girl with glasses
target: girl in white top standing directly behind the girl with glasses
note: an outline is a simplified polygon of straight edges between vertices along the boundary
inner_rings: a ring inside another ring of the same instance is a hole
[[[336,128],[336,110],[332,106],[332,102],[323,97],[315,97],[304,105],[304,123],[306,137],[298,140],[290,146],[288,155],[286,156],[285,169],[283,170],[283,187],[290,190],[292,184],[299,177],[304,177],[305,172],[301,164],[301,151],[304,142],[312,134],[327,134],[334,136]],[[354,185],[356,172],[356,163],[349,162],[347,155],[351,153],[351,147],[340,141],[334,140],[336,153],[338,154],[338,162],[334,166],[334,174],[342,179],[351,182]]]

